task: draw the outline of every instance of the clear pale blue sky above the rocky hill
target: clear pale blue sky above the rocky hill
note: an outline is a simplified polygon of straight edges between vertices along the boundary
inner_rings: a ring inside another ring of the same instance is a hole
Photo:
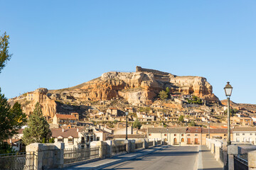
[[[256,1],[3,1],[0,30],[13,57],[0,74],[7,98],[62,89],[141,66],[206,77],[213,93],[255,103]]]

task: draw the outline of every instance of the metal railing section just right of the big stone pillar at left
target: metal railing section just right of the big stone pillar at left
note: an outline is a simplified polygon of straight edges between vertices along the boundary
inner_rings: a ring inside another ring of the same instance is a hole
[[[99,157],[100,147],[92,147],[85,149],[65,149],[64,150],[64,164],[72,162],[81,162],[87,159]]]

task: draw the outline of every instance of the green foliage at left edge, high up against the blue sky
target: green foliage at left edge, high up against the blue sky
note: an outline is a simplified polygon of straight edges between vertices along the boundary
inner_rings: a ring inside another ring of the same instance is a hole
[[[6,66],[6,62],[11,59],[9,54],[9,35],[4,33],[0,35],[0,73],[1,70]]]

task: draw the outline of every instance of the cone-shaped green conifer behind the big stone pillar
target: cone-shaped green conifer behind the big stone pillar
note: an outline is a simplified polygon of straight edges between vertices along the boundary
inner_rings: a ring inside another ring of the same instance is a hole
[[[28,127],[23,130],[22,141],[25,145],[34,142],[48,142],[50,136],[50,125],[43,116],[40,104],[36,103],[33,114],[28,118]]]

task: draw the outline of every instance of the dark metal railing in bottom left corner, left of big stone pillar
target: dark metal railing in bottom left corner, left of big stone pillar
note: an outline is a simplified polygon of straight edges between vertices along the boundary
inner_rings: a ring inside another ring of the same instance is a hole
[[[16,154],[0,154],[0,170],[36,170],[37,155],[34,152],[16,153]],[[26,164],[27,162],[27,164]]]

